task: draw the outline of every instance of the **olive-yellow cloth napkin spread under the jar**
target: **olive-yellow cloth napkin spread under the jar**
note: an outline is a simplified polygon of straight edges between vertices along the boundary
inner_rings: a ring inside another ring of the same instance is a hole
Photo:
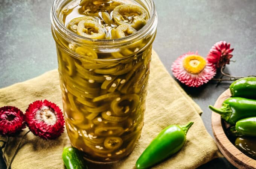
[[[5,105],[16,106],[25,112],[30,103],[44,99],[52,101],[62,108],[57,70],[0,89],[0,107]],[[136,148],[127,158],[120,160],[118,163],[108,165],[89,164],[89,168],[133,169],[140,154],[163,128],[171,124],[184,125],[189,121],[193,121],[194,125],[189,129],[187,141],[181,151],[153,168],[196,168],[219,155],[215,142],[204,127],[200,117],[201,113],[200,107],[169,75],[159,57],[153,51],[148,96],[146,98],[145,125]],[[27,128],[19,137],[9,140],[5,153],[8,161],[14,154],[21,135],[26,131]],[[12,169],[64,169],[61,154],[63,147],[69,145],[70,141],[66,130],[58,139],[48,141],[29,133],[14,158]]]

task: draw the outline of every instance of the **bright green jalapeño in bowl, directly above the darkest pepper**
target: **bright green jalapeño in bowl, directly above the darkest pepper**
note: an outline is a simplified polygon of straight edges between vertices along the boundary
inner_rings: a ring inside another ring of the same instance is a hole
[[[245,118],[236,122],[235,127],[230,127],[229,133],[235,136],[256,136],[256,117]]]

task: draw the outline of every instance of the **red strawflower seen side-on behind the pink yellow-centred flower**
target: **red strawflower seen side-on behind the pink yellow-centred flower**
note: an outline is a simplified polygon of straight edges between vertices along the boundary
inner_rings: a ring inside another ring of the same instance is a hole
[[[221,68],[221,66],[229,64],[230,58],[233,56],[230,54],[233,49],[230,49],[230,43],[226,41],[219,41],[210,49],[207,60],[209,63],[213,63],[217,68]]]

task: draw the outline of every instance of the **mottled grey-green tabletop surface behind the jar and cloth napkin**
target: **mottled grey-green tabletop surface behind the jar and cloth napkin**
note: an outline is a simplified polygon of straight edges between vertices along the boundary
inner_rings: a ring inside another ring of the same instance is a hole
[[[50,30],[53,0],[0,0],[0,88],[57,68]],[[207,56],[215,42],[231,43],[233,60],[225,69],[237,76],[256,74],[255,0],[155,0],[158,30],[154,49],[171,74],[171,64],[188,51]],[[210,81],[200,88],[181,86],[203,109],[203,121],[212,135],[209,104],[230,83]],[[161,85],[161,82],[159,82]],[[3,162],[2,162],[3,163]],[[3,168],[0,163],[0,168]],[[234,168],[224,158],[201,168]]]

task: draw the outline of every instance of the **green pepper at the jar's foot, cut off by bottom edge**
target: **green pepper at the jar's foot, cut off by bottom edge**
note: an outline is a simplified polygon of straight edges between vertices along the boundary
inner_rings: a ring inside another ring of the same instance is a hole
[[[88,169],[82,152],[74,147],[65,147],[62,152],[62,159],[67,169]]]

